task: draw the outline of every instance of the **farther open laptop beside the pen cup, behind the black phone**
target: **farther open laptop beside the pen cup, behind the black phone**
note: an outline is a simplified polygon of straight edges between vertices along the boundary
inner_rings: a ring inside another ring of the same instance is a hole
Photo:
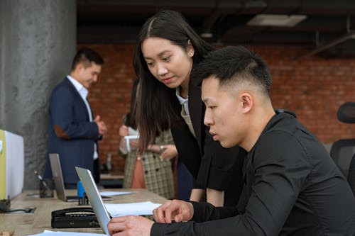
[[[62,169],[60,168],[59,155],[57,153],[49,154],[50,168],[52,169],[53,181],[57,196],[62,201],[77,201],[77,196],[65,196],[64,181]]]

